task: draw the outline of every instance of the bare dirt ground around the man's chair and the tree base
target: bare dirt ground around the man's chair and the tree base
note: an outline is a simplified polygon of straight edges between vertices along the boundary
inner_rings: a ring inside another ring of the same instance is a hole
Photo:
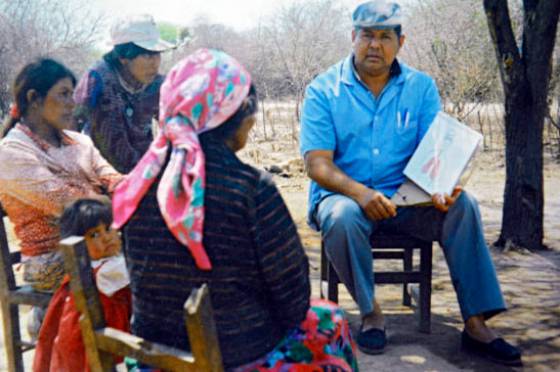
[[[308,181],[301,173],[295,143],[259,141],[253,138],[241,157],[259,168],[282,173],[274,177],[310,257],[313,295],[319,295],[319,247],[317,233],[305,223]],[[488,243],[496,240],[501,224],[504,159],[501,151],[481,153],[467,189],[480,202]],[[538,253],[499,252],[492,249],[509,311],[491,320],[492,327],[523,351],[523,369],[560,370],[560,165],[545,162],[545,244]],[[289,176],[289,177],[288,177]],[[384,261],[384,265],[385,265]],[[359,325],[356,305],[341,288],[341,306],[354,330]],[[378,297],[387,315],[389,346],[383,355],[359,354],[362,371],[509,371],[460,351],[462,321],[441,250],[434,248],[432,333],[416,330],[414,311],[401,305],[401,288],[380,286]],[[3,338],[0,337],[3,349]],[[0,350],[0,371],[5,370]],[[30,367],[32,353],[27,353]],[[26,370],[28,370],[26,368]]]

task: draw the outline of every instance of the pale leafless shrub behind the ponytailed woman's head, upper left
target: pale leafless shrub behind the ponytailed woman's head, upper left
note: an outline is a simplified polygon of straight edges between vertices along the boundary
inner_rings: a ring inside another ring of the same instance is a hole
[[[10,103],[14,74],[33,58],[54,57],[84,71],[101,19],[85,0],[0,0],[0,110]]]

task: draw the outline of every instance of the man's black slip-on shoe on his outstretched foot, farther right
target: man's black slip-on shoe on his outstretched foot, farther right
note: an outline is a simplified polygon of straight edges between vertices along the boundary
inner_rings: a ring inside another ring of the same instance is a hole
[[[521,367],[523,365],[519,349],[507,343],[503,338],[497,338],[486,343],[475,340],[467,331],[463,331],[461,334],[461,346],[466,351],[496,363],[512,367]]]

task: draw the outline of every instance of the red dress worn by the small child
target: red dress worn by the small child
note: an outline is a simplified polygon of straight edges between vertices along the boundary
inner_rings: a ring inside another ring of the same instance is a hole
[[[132,298],[129,287],[118,290],[111,297],[100,291],[99,299],[106,326],[130,332]],[[33,360],[34,372],[89,371],[79,318],[66,276],[51,299],[41,326]]]

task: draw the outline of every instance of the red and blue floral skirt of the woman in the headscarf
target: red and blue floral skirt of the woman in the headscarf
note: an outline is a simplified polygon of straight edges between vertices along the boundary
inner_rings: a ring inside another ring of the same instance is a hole
[[[298,328],[266,357],[235,372],[358,371],[355,350],[344,311],[332,302],[312,300]]]

